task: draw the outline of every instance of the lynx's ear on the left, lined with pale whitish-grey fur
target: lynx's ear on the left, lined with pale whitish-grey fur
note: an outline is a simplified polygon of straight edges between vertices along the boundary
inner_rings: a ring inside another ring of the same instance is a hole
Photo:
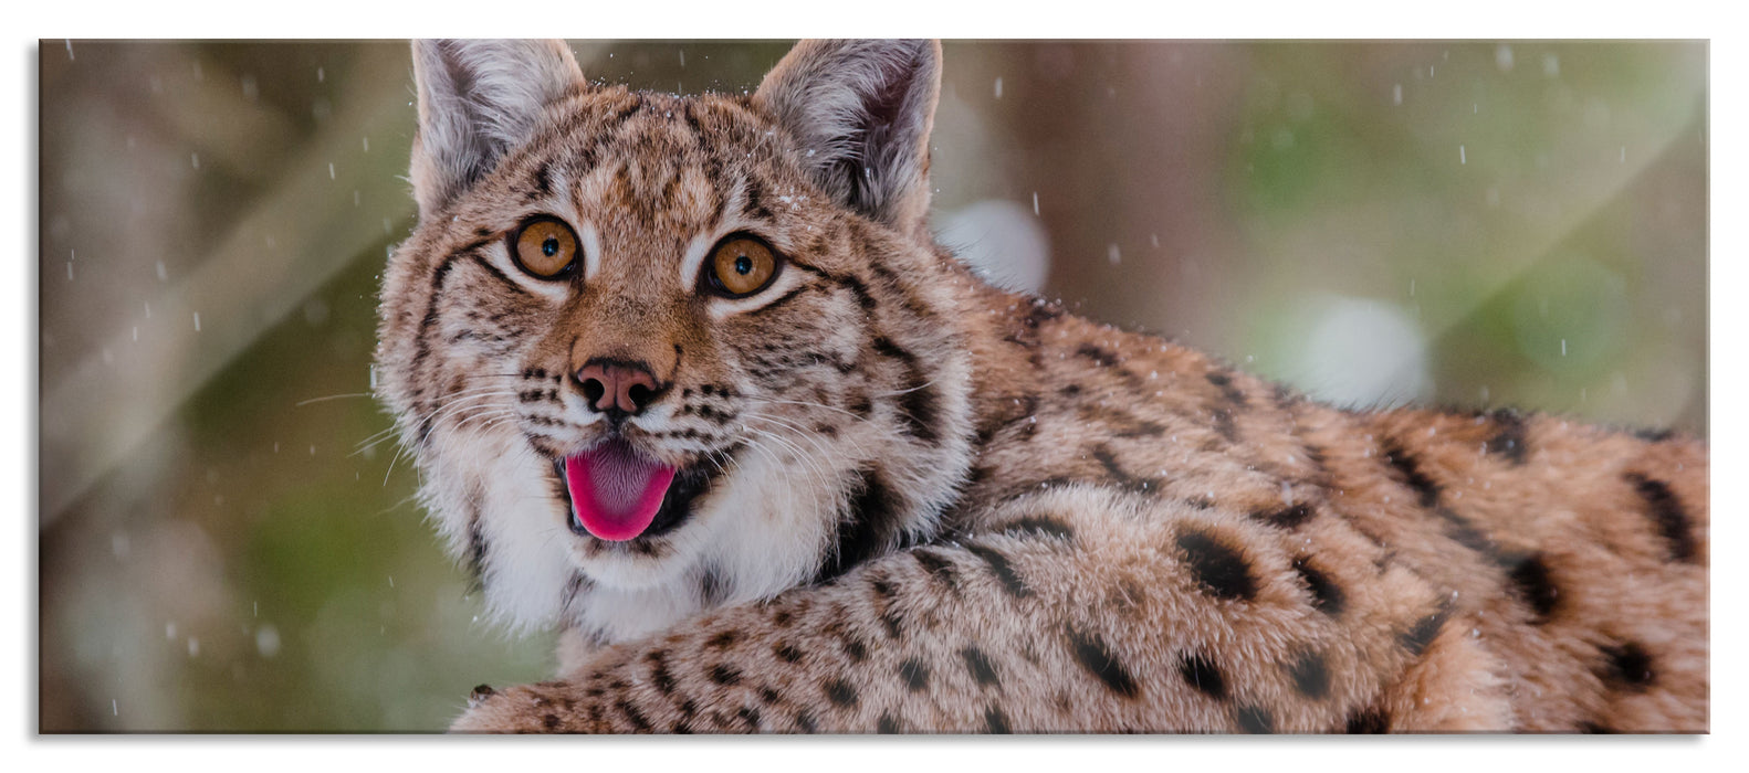
[[[542,108],[586,84],[563,40],[415,40],[420,133],[413,198],[430,217],[528,138]]]

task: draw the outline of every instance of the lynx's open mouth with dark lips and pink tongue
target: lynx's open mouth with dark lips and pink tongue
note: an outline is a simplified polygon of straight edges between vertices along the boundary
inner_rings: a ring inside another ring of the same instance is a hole
[[[668,467],[617,437],[553,467],[570,498],[570,530],[609,542],[673,530],[714,477],[708,465]]]

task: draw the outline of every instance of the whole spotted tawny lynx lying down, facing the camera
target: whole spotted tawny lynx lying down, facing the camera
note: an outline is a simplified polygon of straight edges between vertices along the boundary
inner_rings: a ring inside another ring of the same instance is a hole
[[[413,45],[380,395],[556,680],[458,731],[1705,731],[1707,448],[1348,411],[990,287],[934,42]]]

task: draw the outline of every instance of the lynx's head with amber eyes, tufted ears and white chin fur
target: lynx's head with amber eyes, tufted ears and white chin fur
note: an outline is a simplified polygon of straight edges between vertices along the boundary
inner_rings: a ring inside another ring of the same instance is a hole
[[[672,96],[560,42],[413,45],[380,395],[500,619],[619,638],[591,603],[764,598],[936,528],[972,432],[939,61],[805,42],[750,96]]]

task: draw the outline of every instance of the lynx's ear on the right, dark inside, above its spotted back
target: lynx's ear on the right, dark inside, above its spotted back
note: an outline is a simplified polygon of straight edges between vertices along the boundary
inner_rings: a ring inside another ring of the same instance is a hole
[[[929,212],[929,128],[941,93],[934,40],[803,40],[754,105],[801,142],[826,192],[906,233]]]

